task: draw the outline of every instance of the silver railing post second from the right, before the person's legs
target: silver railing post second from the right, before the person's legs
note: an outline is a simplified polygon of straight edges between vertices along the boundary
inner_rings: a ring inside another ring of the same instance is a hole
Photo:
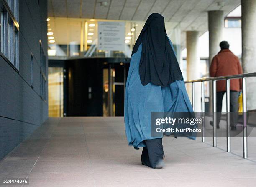
[[[227,100],[227,152],[230,152],[230,79],[226,80],[226,100]]]

